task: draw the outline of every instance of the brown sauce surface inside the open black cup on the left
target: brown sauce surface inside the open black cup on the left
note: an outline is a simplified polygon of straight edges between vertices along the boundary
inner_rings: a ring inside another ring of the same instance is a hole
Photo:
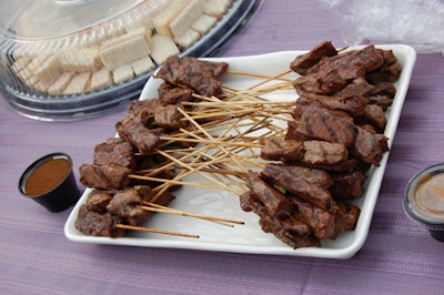
[[[71,162],[67,159],[50,159],[38,165],[24,183],[27,195],[41,195],[57,187],[68,176]]]

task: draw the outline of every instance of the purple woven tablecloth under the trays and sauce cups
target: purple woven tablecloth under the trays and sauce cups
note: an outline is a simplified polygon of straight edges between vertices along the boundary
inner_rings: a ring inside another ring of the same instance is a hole
[[[264,1],[222,57],[344,45],[317,1]],[[350,260],[252,255],[70,242],[70,210],[49,213],[17,183],[37,157],[69,153],[74,172],[115,134],[117,111],[77,122],[41,122],[0,102],[0,285],[2,294],[442,294],[444,243],[402,208],[407,181],[444,160],[444,59],[418,54],[369,237]],[[83,187],[82,187],[83,189]]]

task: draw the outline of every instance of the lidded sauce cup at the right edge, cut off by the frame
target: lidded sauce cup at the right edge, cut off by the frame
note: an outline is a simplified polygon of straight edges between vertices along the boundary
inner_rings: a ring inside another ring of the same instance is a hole
[[[432,165],[412,177],[404,193],[404,210],[434,238],[444,242],[444,163]]]

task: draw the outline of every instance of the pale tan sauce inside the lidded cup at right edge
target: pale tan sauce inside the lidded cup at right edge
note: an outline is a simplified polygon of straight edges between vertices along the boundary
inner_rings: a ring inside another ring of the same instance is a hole
[[[413,205],[426,220],[444,220],[444,174],[428,175],[417,186]]]

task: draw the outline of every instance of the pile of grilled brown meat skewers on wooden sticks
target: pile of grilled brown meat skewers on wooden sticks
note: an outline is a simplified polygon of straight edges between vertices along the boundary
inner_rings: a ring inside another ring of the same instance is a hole
[[[165,62],[159,99],[132,102],[115,124],[119,138],[98,144],[93,163],[81,165],[81,182],[94,191],[79,211],[79,231],[118,237],[159,232],[140,226],[153,212],[196,217],[168,207],[182,185],[239,195],[263,231],[294,248],[354,230],[360,208],[350,201],[362,196],[365,173],[387,151],[382,132],[400,75],[395,55],[322,42],[246,90],[222,84],[226,72],[249,75],[228,68],[186,57]],[[285,78],[293,71],[301,77]],[[263,98],[283,89],[300,99]],[[184,181],[193,173],[205,181]]]

